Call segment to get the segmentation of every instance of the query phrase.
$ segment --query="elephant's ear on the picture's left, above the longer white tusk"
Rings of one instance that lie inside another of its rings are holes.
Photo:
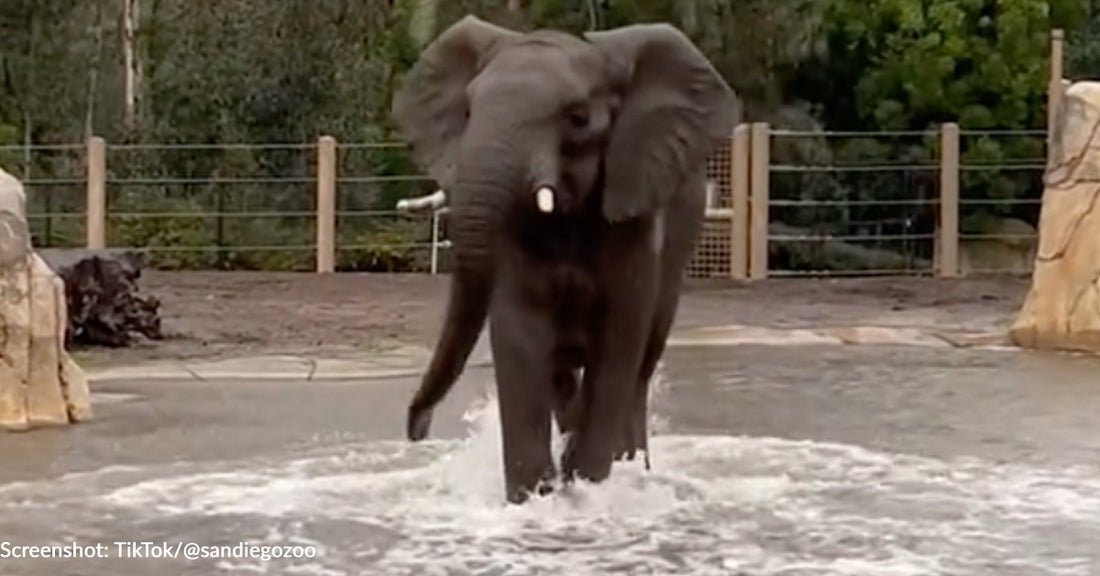
[[[413,157],[444,189],[452,185],[454,148],[466,128],[466,85],[502,40],[518,35],[468,15],[424,49],[394,95],[392,114]]]

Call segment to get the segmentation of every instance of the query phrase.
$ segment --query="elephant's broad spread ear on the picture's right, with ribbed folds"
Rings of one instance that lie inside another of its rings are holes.
[[[588,32],[623,96],[605,159],[604,215],[656,210],[733,129],[736,96],[682,32],[635,24]]]

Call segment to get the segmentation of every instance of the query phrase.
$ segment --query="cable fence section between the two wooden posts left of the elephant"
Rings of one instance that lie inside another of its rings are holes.
[[[161,268],[306,270],[316,145],[107,145],[106,244]]]

